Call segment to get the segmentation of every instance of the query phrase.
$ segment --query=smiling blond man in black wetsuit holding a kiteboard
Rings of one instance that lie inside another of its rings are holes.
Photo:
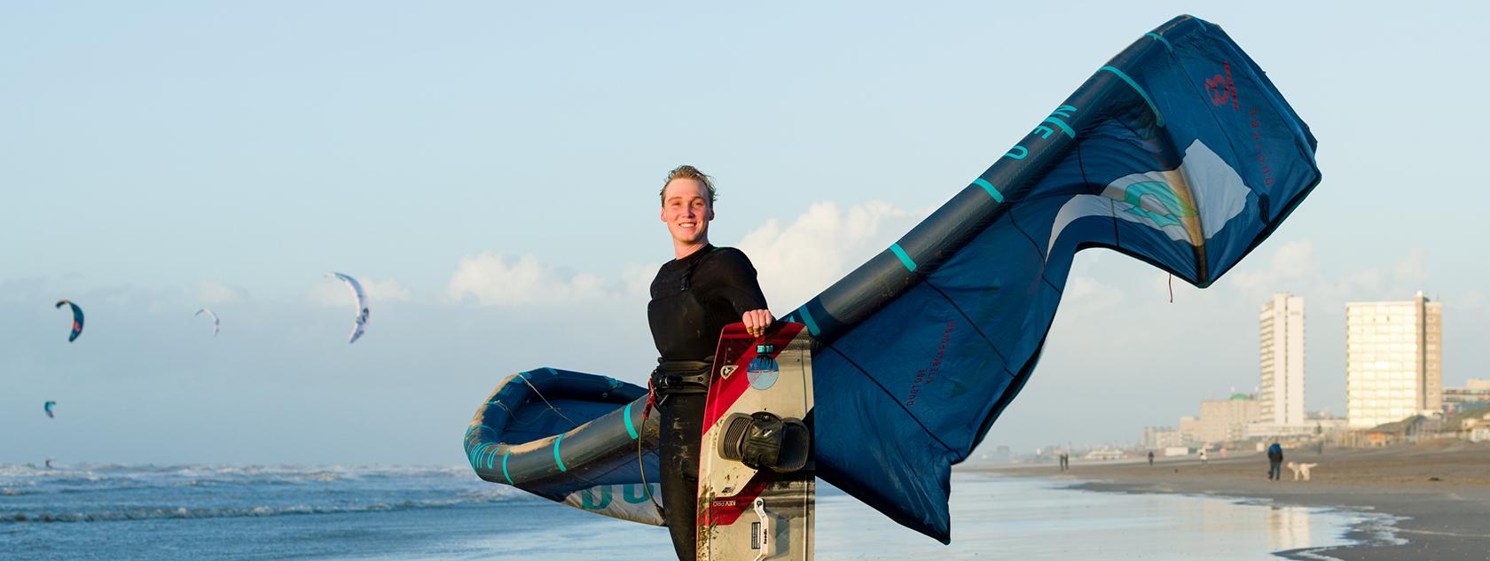
[[[697,168],[682,165],[668,174],[662,222],[676,259],[657,271],[647,305],[660,354],[651,387],[662,427],[663,518],[681,561],[696,558],[703,400],[720,332],[742,321],[746,332],[760,336],[775,321],[745,253],[709,244],[714,198],[709,176]]]

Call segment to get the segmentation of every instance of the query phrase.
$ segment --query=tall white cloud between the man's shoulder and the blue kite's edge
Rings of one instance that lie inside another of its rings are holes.
[[[738,247],[749,256],[760,287],[776,312],[787,312],[888,247],[909,226],[909,213],[870,201],[840,210],[817,202],[790,225],[775,219],[745,234]]]

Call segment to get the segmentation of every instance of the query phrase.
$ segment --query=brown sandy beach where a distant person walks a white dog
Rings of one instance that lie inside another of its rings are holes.
[[[998,473],[1079,481],[1112,493],[1176,493],[1271,500],[1401,516],[1398,543],[1356,528],[1360,546],[1329,551],[1338,560],[1490,560],[1490,443],[1427,442],[1377,449],[1289,449],[1284,461],[1316,463],[1311,481],[1268,481],[1261,452],[1147,461],[1079,461],[995,469]]]

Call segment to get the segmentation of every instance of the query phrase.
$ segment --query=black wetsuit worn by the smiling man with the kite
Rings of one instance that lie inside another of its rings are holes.
[[[720,330],[751,310],[766,310],[755,268],[732,247],[705,246],[657,271],[647,320],[657,344],[657,412],[662,423],[663,516],[678,560],[693,561],[697,542],[699,448],[709,363]]]

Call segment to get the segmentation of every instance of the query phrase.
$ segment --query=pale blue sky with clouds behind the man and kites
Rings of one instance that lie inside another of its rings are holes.
[[[1310,411],[1344,414],[1350,301],[1423,290],[1444,382],[1490,378],[1480,6],[6,3],[0,461],[463,463],[505,375],[645,379],[668,170],[715,177],[711,240],[781,315],[1191,12],[1268,71],[1325,179],[1173,302],[1083,251],[979,452],[1131,443],[1252,391],[1274,292],[1305,299]],[[328,271],[368,289],[355,345]]]

